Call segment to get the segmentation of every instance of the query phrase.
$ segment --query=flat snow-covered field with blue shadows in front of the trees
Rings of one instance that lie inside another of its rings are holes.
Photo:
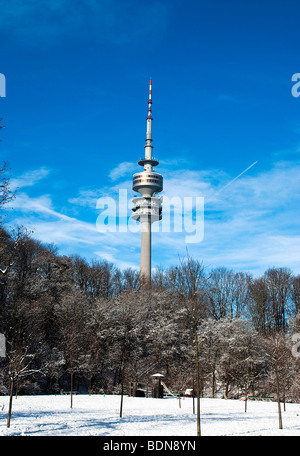
[[[0,396],[0,436],[196,436],[192,399],[152,399],[124,396],[19,396],[13,400],[6,428],[7,396]],[[277,403],[201,399],[203,436],[300,436],[300,404],[286,404],[283,429],[278,429]]]

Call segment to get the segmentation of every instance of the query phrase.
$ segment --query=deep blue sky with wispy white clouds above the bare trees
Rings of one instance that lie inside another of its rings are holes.
[[[133,196],[151,77],[164,195],[205,208],[201,242],[153,233],[153,267],[188,249],[209,268],[300,273],[299,2],[0,0],[0,10],[11,226],[61,254],[139,266],[140,235],[99,233],[96,204]]]

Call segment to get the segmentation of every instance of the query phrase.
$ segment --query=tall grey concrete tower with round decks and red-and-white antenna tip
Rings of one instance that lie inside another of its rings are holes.
[[[159,164],[152,156],[152,81],[149,85],[147,133],[145,158],[138,164],[143,171],[133,175],[132,188],[142,196],[133,198],[132,218],[142,225],[140,280],[144,285],[151,284],[151,225],[162,218],[162,199],[157,195],[163,189],[163,177],[153,170]]]

